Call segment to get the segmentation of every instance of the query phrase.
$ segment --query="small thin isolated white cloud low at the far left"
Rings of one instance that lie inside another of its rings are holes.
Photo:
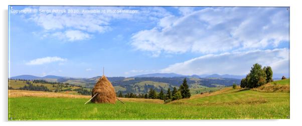
[[[39,64],[45,64],[45,63],[51,63],[51,62],[57,62],[57,61],[66,61],[66,58],[61,58],[58,56],[53,56],[53,57],[43,57],[43,58],[37,58],[37,59],[33,59],[30,60],[29,62],[27,62],[27,65],[39,65]]]

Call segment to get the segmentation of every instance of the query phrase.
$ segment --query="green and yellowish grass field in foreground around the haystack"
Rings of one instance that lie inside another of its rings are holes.
[[[289,92],[286,91],[260,92],[226,87],[168,104],[158,99],[121,98],[125,104],[116,101],[116,104],[86,105],[90,96],[45,97],[35,94],[42,91],[29,92],[31,95],[19,94],[18,91],[23,90],[10,92],[14,91],[9,98],[9,120],[289,118]]]

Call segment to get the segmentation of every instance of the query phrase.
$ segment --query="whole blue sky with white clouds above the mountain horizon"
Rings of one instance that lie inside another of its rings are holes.
[[[243,75],[257,62],[289,76],[286,7],[11,6],[10,35],[11,76]]]

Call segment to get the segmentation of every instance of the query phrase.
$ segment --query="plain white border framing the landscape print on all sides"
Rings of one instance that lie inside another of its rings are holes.
[[[301,4],[299,0],[0,0],[2,125],[297,125],[300,123]],[[8,5],[167,5],[167,6],[290,6],[290,119],[276,120],[100,120],[8,121]],[[101,122],[101,123],[100,123]]]

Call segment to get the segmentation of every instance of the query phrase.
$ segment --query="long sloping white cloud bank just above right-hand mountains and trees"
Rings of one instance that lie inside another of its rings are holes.
[[[161,72],[179,74],[247,74],[254,63],[271,66],[273,73],[289,74],[289,50],[287,48],[253,50],[222,54],[207,54],[184,62],[169,65]]]

